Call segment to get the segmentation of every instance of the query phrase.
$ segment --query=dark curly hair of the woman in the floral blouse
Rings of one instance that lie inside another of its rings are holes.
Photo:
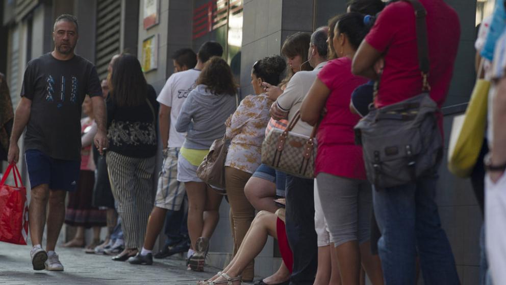
[[[251,73],[257,78],[261,78],[262,81],[275,86],[280,84],[281,74],[284,72],[285,68],[285,59],[279,55],[272,55],[255,62]]]

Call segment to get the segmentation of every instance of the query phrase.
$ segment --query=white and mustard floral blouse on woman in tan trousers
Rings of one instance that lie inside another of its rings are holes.
[[[246,96],[235,113],[226,120],[226,137],[231,139],[231,145],[225,166],[247,173],[257,170],[271,104],[266,94]]]

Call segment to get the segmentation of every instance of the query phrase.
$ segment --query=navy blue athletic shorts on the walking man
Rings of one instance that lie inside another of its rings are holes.
[[[51,158],[38,150],[24,153],[32,188],[49,184],[49,189],[74,191],[79,180],[81,161]]]

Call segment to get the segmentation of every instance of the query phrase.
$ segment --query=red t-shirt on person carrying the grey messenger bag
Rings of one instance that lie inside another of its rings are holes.
[[[442,0],[419,0],[427,10],[431,98],[441,107],[446,99],[457,56],[460,24],[457,13]],[[375,101],[377,108],[422,92],[415,14],[408,2],[394,2],[380,13],[365,40],[384,54],[385,67]]]

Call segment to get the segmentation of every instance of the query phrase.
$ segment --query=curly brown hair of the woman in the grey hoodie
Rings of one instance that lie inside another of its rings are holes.
[[[237,93],[237,85],[234,82],[229,64],[217,56],[211,57],[206,62],[196,84],[206,85],[207,89],[215,95],[229,94],[234,96]]]

